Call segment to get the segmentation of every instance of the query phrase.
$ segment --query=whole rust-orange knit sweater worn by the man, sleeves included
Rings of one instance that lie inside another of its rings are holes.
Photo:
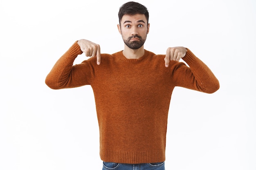
[[[117,163],[165,160],[167,116],[175,86],[213,93],[218,79],[188,49],[183,62],[164,66],[165,55],[145,50],[139,59],[122,51],[101,54],[73,65],[82,54],[75,42],[56,62],[45,83],[53,89],[90,85],[94,91],[100,133],[100,157]]]

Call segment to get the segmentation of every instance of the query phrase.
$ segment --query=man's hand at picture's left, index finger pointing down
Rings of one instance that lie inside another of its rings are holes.
[[[101,49],[99,44],[84,39],[78,40],[77,44],[80,46],[81,51],[85,53],[86,57],[97,57],[97,64],[101,64]]]

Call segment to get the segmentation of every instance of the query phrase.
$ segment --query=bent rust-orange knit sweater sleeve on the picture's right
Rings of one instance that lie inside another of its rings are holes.
[[[171,69],[171,75],[176,86],[189,88],[204,93],[214,93],[220,88],[218,79],[210,68],[196,57],[189,49],[182,58],[188,65],[176,62]]]

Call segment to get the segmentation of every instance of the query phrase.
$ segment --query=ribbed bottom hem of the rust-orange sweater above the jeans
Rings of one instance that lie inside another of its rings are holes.
[[[101,150],[101,160],[115,163],[154,163],[165,161],[165,151],[122,151],[122,150]]]

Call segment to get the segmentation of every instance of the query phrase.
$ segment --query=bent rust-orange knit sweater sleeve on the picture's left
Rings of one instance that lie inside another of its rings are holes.
[[[95,73],[95,66],[90,62],[91,60],[85,60],[81,64],[73,65],[76,57],[82,53],[76,41],[58,59],[47,75],[45,84],[52,89],[74,88],[90,84]]]

